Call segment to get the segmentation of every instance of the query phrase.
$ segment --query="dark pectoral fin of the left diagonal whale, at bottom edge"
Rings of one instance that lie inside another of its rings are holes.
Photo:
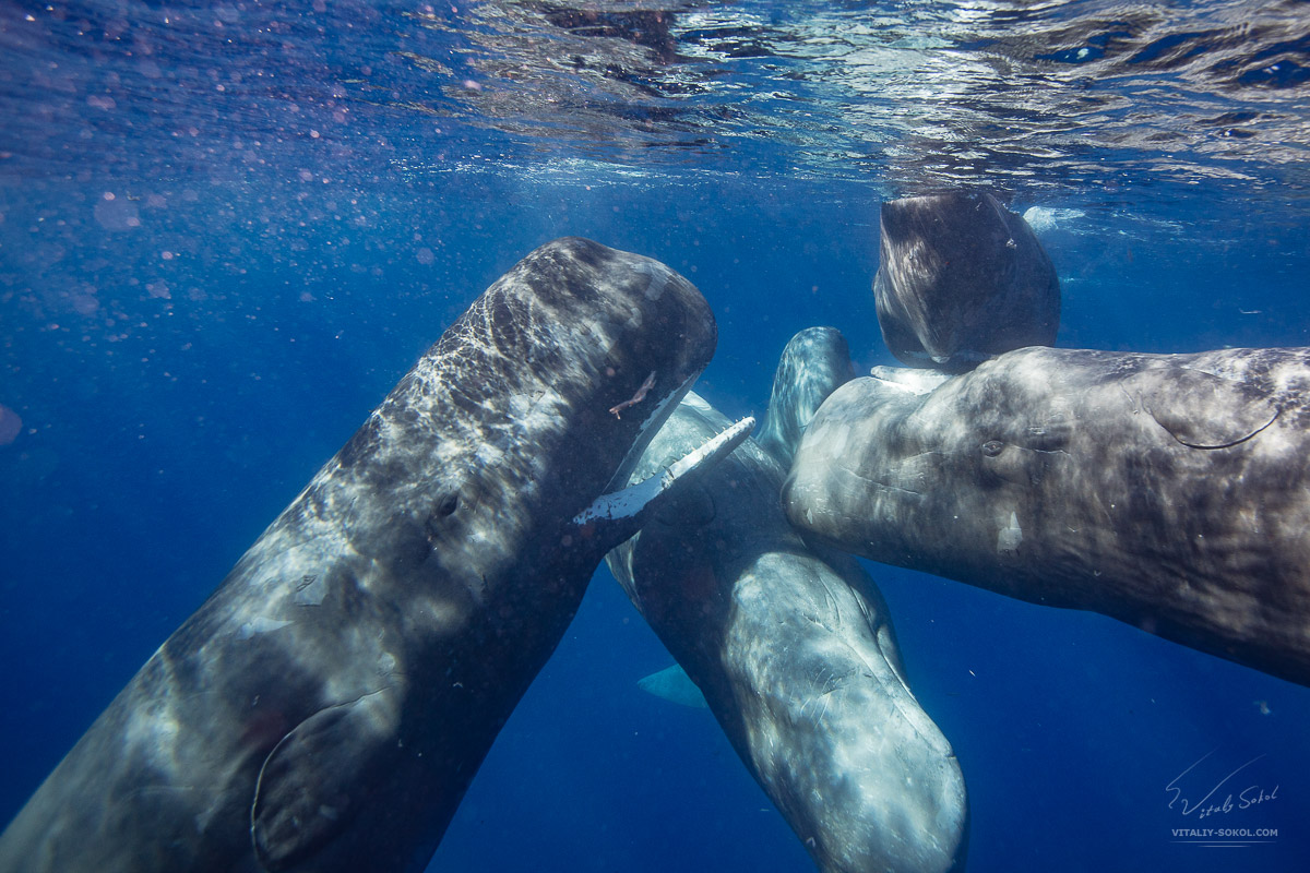
[[[316,855],[359,811],[358,781],[390,736],[392,696],[383,690],[321,709],[269,753],[250,809],[265,868],[286,870]]]

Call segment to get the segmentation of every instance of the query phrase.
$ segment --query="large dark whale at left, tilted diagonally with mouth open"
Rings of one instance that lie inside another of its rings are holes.
[[[115,698],[0,836],[0,870],[421,870],[601,558],[659,504],[601,496],[714,344],[668,267],[578,238],[531,253]]]

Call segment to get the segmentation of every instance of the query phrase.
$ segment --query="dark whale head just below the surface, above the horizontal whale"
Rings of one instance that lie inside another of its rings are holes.
[[[883,204],[874,304],[887,348],[910,366],[962,372],[1049,346],[1060,280],[1023,220],[985,191]]]

